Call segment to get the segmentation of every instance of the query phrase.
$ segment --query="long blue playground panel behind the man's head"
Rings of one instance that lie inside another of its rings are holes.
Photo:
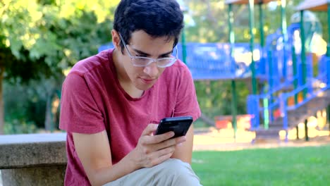
[[[99,51],[114,47],[105,44],[99,47]],[[178,58],[182,60],[183,52],[181,43],[178,44]],[[249,64],[245,61],[236,61],[229,55],[228,43],[193,43],[185,44],[188,56],[185,63],[190,69],[194,80],[229,80],[250,77]],[[234,46],[236,54],[250,54],[249,44],[237,43]],[[255,51],[259,51],[259,46]],[[175,54],[173,54],[175,55]]]

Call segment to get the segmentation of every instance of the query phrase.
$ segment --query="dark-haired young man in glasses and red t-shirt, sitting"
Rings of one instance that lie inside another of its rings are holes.
[[[79,61],[63,82],[65,185],[200,185],[185,137],[153,135],[161,118],[200,117],[193,79],[175,51],[183,14],[175,0],[122,0],[114,49]]]

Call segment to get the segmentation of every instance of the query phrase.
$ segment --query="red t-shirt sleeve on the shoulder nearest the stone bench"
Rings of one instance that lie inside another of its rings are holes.
[[[81,75],[70,73],[63,82],[59,128],[85,134],[105,130],[102,113]]]

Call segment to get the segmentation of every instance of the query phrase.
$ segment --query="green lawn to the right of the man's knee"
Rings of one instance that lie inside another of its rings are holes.
[[[330,185],[330,146],[194,151],[202,185]]]

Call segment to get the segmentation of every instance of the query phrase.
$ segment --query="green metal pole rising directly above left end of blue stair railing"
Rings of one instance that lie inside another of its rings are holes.
[[[249,18],[250,18],[250,51],[251,51],[251,72],[252,72],[252,94],[257,94],[257,80],[255,77],[255,60],[253,59],[253,44],[254,44],[254,25],[255,25],[255,11],[254,11],[254,1],[249,0]]]

